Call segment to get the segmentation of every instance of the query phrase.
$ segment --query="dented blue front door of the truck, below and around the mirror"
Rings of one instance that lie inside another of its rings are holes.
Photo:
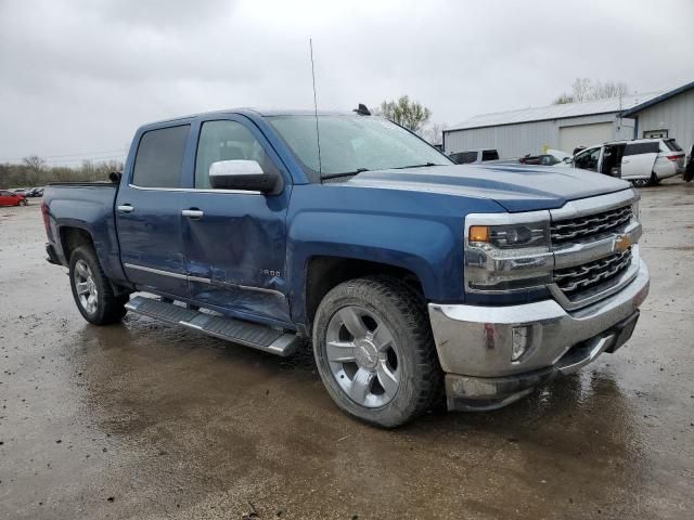
[[[191,297],[239,317],[290,322],[285,218],[292,184],[275,195],[214,190],[209,168],[219,160],[256,160],[287,181],[285,167],[262,133],[243,116],[203,121],[191,190],[184,193],[183,240]]]

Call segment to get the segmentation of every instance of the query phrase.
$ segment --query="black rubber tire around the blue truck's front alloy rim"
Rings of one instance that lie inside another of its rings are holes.
[[[339,311],[354,308],[375,316],[377,326],[385,324],[391,344],[397,346],[398,387],[395,395],[383,406],[368,407],[354,401],[331,368],[326,347],[329,325]],[[423,414],[441,394],[442,372],[426,303],[397,278],[368,276],[351,280],[327,292],[316,313],[313,353],[318,372],[333,401],[349,415],[375,426],[394,428],[403,425]]]

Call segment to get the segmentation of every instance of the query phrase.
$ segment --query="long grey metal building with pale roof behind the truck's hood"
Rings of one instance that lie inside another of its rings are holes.
[[[570,154],[577,146],[634,139],[637,119],[626,114],[666,95],[651,92],[475,116],[444,132],[444,151],[497,148],[500,157],[512,158],[547,148]],[[644,128],[643,121],[639,128]]]

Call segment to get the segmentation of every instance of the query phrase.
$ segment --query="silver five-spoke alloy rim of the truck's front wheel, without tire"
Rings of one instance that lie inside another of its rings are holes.
[[[333,315],[325,353],[333,377],[357,404],[384,406],[398,392],[398,347],[388,327],[367,309],[349,306]]]

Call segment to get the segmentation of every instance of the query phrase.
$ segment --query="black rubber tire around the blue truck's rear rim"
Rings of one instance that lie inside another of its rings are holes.
[[[83,262],[89,268],[91,283],[95,288],[95,306],[93,310],[88,310],[80,300],[78,294],[78,273],[77,265],[82,266]],[[89,323],[94,325],[108,325],[118,323],[126,315],[127,309],[125,304],[130,298],[129,295],[115,296],[113,287],[108,283],[108,278],[104,274],[94,249],[90,246],[81,246],[73,251],[69,258],[69,285],[73,289],[73,298],[77,304],[77,309]]]

